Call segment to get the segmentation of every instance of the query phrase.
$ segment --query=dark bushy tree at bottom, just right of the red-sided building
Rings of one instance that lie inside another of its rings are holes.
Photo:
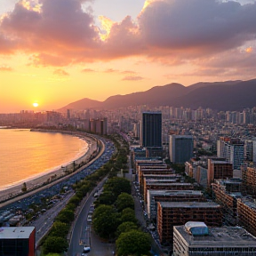
[[[49,252],[67,252],[68,242],[63,237],[48,236],[43,245],[43,252],[47,254]]]

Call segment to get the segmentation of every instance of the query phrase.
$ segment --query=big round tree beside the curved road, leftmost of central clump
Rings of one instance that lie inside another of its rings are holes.
[[[102,238],[115,237],[116,228],[120,224],[118,213],[110,205],[100,205],[92,215],[92,226]]]

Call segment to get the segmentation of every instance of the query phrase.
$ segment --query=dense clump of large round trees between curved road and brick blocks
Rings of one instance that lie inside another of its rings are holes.
[[[129,180],[109,179],[95,204],[92,227],[100,237],[116,240],[118,256],[151,255],[150,237],[140,230],[135,217]]]

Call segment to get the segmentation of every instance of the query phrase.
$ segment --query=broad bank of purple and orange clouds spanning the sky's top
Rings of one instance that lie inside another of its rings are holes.
[[[256,38],[255,2],[148,0],[138,20],[126,16],[114,22],[100,16],[101,28],[92,12],[82,8],[84,2],[91,1],[20,1],[0,20],[0,54],[26,52],[30,65],[36,66],[64,67],[131,56],[164,65],[200,66],[214,56],[239,51]],[[253,53],[253,47],[248,45],[247,53]],[[248,54],[239,56],[240,65],[255,65]],[[234,59],[229,56],[229,65],[235,65]]]

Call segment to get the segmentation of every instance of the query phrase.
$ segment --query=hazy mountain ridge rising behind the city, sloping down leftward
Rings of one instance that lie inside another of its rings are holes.
[[[149,105],[185,107],[215,110],[242,110],[256,106],[256,79],[248,81],[226,81],[214,83],[196,83],[188,87],[182,84],[155,86],[146,92],[134,92],[115,95],[105,101],[84,98],[60,108],[60,112],[69,109],[85,110],[125,108],[128,106]]]

